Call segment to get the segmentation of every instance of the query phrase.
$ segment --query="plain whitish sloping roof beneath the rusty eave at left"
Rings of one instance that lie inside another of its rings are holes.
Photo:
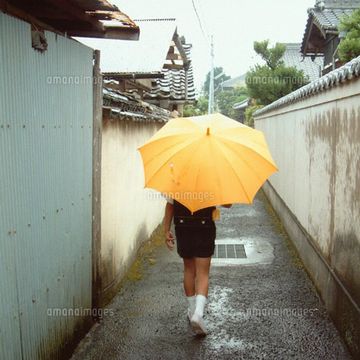
[[[176,31],[176,22],[174,19],[146,19],[137,20],[137,25],[140,27],[138,41],[77,40],[101,51],[100,68],[103,73],[160,72]]]

